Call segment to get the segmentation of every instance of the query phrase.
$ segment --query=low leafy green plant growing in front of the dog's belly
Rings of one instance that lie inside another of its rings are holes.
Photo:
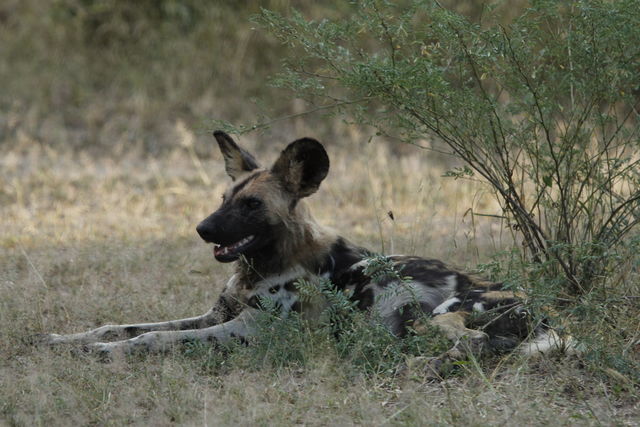
[[[299,291],[305,301],[324,300],[317,319],[299,313],[281,316],[269,299],[257,313],[256,333],[246,342],[232,341],[211,347],[194,341],[184,353],[202,361],[206,372],[219,374],[233,368],[305,368],[324,357],[339,360],[347,375],[394,378],[413,356],[438,356],[449,342],[435,326],[424,322],[420,334],[410,331],[398,338],[374,317],[360,311],[348,295],[329,282],[301,281]]]

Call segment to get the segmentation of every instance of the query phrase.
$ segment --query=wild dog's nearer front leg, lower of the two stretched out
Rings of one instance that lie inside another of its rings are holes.
[[[101,356],[109,357],[116,354],[131,354],[135,352],[166,351],[176,344],[188,341],[222,344],[231,339],[250,337],[254,331],[253,322],[256,312],[256,309],[247,308],[236,318],[208,328],[147,332],[128,340],[89,344],[86,348]]]

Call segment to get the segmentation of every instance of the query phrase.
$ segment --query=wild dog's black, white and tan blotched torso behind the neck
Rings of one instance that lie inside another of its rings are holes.
[[[490,344],[507,349],[531,333],[520,295],[442,261],[376,255],[342,237],[332,245],[329,258],[329,277],[336,288],[348,292],[359,309],[371,311],[398,336],[417,319],[447,313],[456,313],[456,322],[464,324],[464,329],[449,334],[452,339],[464,333],[488,335]],[[484,332],[467,327],[482,327]]]

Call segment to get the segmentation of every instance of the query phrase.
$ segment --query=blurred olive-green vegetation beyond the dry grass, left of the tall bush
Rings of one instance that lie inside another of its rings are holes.
[[[490,2],[446,1],[475,21]],[[509,21],[523,4],[499,6]],[[301,0],[6,0],[0,4],[0,144],[36,141],[111,155],[175,146],[181,121],[210,148],[212,120],[256,123],[305,106],[273,89],[288,46],[251,17],[261,8],[339,18],[350,2]],[[333,139],[339,123],[304,125]],[[334,126],[335,125],[335,126]],[[300,122],[278,123],[287,138]],[[297,129],[297,128],[296,128]],[[299,129],[298,129],[299,130]]]

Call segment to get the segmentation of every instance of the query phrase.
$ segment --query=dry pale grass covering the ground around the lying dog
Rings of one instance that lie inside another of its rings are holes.
[[[195,140],[180,123],[175,132],[187,145]],[[351,130],[351,148],[329,144],[330,177],[310,200],[319,220],[374,249],[384,245],[387,252],[460,265],[474,265],[510,243],[498,220],[482,217],[473,224],[465,216],[469,207],[497,213],[481,185],[442,179],[443,169],[426,152],[391,154],[383,144],[361,142],[365,136]],[[267,161],[287,142],[243,141]],[[318,355],[304,368],[230,366],[212,373],[201,357],[180,351],[102,364],[66,350],[30,346],[24,340],[32,333],[207,310],[229,268],[215,263],[194,226],[216,207],[227,179],[217,153],[199,168],[185,145],[158,158],[135,152],[91,157],[15,142],[3,153],[0,172],[0,422],[638,421],[633,393],[590,377],[575,361],[510,360],[480,370],[469,365],[463,376],[429,383],[419,375],[363,377],[331,355]]]

